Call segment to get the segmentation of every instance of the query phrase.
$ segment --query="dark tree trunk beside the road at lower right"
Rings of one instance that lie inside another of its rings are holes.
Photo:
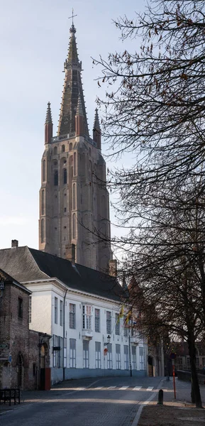
[[[196,404],[197,408],[202,408],[199,380],[198,380],[198,376],[196,372],[196,346],[195,346],[193,336],[190,336],[188,338],[188,346],[189,346],[189,356],[190,356],[190,366],[191,366],[192,403]]]

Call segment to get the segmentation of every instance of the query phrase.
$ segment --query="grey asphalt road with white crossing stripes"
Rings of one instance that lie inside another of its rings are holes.
[[[140,403],[157,398],[160,382],[130,377],[67,381],[41,393],[41,400],[39,393],[31,393],[29,403],[0,416],[0,425],[131,426]]]

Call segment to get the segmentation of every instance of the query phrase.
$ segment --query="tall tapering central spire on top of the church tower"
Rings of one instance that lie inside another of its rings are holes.
[[[79,62],[78,59],[75,33],[76,30],[72,24],[70,28],[70,44],[68,55],[64,63],[65,81],[62,91],[62,102],[57,136],[74,133],[76,131],[75,116],[77,114],[77,104],[79,97],[81,99],[84,116],[84,134],[89,136],[81,80],[82,62]]]

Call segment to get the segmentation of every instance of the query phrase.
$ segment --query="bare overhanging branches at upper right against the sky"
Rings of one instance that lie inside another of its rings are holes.
[[[123,52],[94,60],[106,88],[104,136],[113,155],[133,154],[132,168],[111,182],[133,188],[136,202],[149,185],[204,175],[205,5],[196,0],[150,0],[135,19],[115,22]],[[127,38],[140,40],[126,50]]]

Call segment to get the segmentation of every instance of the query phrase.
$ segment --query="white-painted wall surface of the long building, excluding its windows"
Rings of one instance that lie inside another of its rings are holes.
[[[40,332],[46,332],[57,337],[63,337],[63,320],[60,324],[60,300],[62,300],[62,307],[64,305],[64,297],[66,286],[60,285],[57,280],[52,282],[32,283],[26,285],[32,293],[32,321],[30,324],[31,329],[36,329]],[[57,297],[57,324],[55,324],[55,297]],[[70,303],[76,306],[76,328],[70,328]],[[118,314],[121,304],[106,300],[102,297],[94,295],[87,295],[80,293],[77,290],[67,290],[65,297],[65,338],[67,339],[67,361],[66,366],[70,368],[70,339],[76,340],[76,369],[83,368],[83,340],[82,336],[82,305],[90,305],[92,307],[92,338],[89,339],[89,369],[96,368],[96,353],[95,342],[101,343],[101,370],[107,369],[107,358],[104,355],[104,349],[107,347],[107,332],[106,332],[106,311],[111,311],[111,344],[112,344],[112,370],[116,370],[116,344],[121,345],[121,370],[125,370],[124,364],[124,345],[129,346],[128,337],[123,335],[123,318],[120,320],[120,335],[115,333],[116,313]],[[100,332],[95,332],[94,327],[94,313],[95,308],[100,310]],[[62,318],[63,319],[63,318]],[[62,343],[62,339],[61,339]],[[50,340],[50,366],[53,366],[52,346],[56,346],[53,339]],[[132,344],[131,344],[132,346]],[[140,357],[139,348],[144,348],[145,362],[144,368],[147,369],[147,350],[143,340],[138,338],[138,346],[136,347],[136,370],[140,371]],[[60,364],[61,371],[63,366],[63,349],[61,351],[62,363]],[[128,357],[128,369],[130,362]],[[55,367],[55,370],[60,368]],[[74,370],[74,368],[72,368]],[[62,376],[62,372],[60,373]],[[57,371],[55,376],[60,380]],[[62,378],[61,378],[62,379]]]

